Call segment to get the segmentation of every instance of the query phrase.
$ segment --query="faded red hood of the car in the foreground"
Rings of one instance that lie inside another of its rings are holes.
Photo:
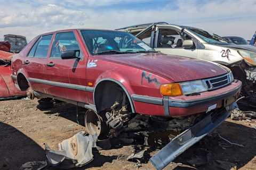
[[[210,62],[162,53],[98,55],[96,58],[139,67],[173,82],[206,79],[227,73],[227,70]]]

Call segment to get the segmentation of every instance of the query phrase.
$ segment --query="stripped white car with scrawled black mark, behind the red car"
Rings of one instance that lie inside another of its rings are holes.
[[[256,105],[256,47],[228,43],[209,32],[166,22],[146,23],[119,28],[145,41],[165,54],[186,56],[225,65],[235,79],[243,82],[242,94]]]

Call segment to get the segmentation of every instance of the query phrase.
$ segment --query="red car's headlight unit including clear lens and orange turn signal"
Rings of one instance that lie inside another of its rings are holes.
[[[206,84],[202,80],[163,84],[160,89],[163,96],[180,96],[207,91]]]

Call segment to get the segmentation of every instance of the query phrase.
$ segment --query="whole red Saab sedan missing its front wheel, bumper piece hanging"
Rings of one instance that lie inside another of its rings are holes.
[[[99,137],[120,132],[137,114],[163,123],[195,116],[195,125],[169,143],[172,156],[151,158],[158,168],[225,121],[242,86],[225,66],[159,53],[127,32],[94,29],[37,36],[13,56],[12,78],[29,96],[87,108],[87,131]]]

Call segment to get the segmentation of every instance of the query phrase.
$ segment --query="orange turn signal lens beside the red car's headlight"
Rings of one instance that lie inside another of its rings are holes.
[[[160,88],[163,96],[180,96],[182,90],[179,83],[163,84]]]

